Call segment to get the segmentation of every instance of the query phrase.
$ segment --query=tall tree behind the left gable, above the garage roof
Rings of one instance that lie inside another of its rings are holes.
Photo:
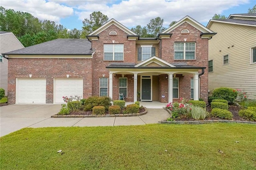
[[[94,30],[98,29],[100,26],[105,24],[108,21],[108,16],[102,14],[100,11],[92,12],[90,14],[90,19],[85,18],[83,21],[84,26],[82,27],[82,31],[84,34],[89,34]]]

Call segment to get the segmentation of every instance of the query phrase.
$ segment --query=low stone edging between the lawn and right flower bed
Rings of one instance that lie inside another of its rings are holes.
[[[206,123],[250,123],[255,124],[256,122],[248,121],[229,121],[229,120],[204,120],[204,121],[159,121],[162,124],[206,124]]]

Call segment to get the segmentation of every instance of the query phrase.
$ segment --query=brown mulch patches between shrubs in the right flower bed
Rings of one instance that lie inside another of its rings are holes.
[[[211,113],[211,107],[210,106],[208,106],[207,107],[207,109],[208,109],[208,112],[209,113]],[[233,114],[233,121],[247,121],[246,119],[243,119],[242,117],[240,117],[239,115],[238,115],[238,112],[241,110],[241,109],[243,109],[243,107],[241,107],[241,106],[237,106],[237,105],[229,105],[229,107],[228,107],[228,110]],[[190,119],[190,118],[187,118],[187,117],[180,117],[180,118],[175,118],[174,119],[175,121],[193,121],[194,119]],[[220,118],[217,118],[217,117],[206,117],[206,119],[205,120],[220,120]]]

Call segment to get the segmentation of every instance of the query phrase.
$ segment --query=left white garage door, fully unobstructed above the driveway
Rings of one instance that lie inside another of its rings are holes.
[[[46,103],[46,79],[17,79],[16,103]]]

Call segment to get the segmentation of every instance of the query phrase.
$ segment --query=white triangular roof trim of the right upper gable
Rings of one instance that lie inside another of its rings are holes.
[[[167,28],[166,30],[161,32],[161,34],[170,33],[172,30],[174,30],[175,28],[177,28],[184,22],[187,22],[194,28],[200,30],[202,33],[214,33],[214,32],[212,32],[212,30],[206,28],[205,26],[203,26],[202,24],[200,24],[199,22],[197,22],[196,20],[194,20],[193,18],[191,18],[190,16],[187,15],[184,18],[182,18],[181,20],[179,20],[178,22],[176,22],[174,25],[170,26],[169,28]]]

